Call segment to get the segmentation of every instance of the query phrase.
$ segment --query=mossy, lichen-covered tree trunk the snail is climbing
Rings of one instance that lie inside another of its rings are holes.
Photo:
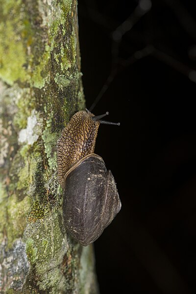
[[[0,0],[0,293],[98,293],[53,151],[84,105],[76,0]]]

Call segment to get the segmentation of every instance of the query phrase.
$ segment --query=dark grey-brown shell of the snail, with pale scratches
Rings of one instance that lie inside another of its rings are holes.
[[[121,210],[114,177],[102,158],[89,154],[64,179],[63,218],[73,239],[87,246],[98,239]]]

